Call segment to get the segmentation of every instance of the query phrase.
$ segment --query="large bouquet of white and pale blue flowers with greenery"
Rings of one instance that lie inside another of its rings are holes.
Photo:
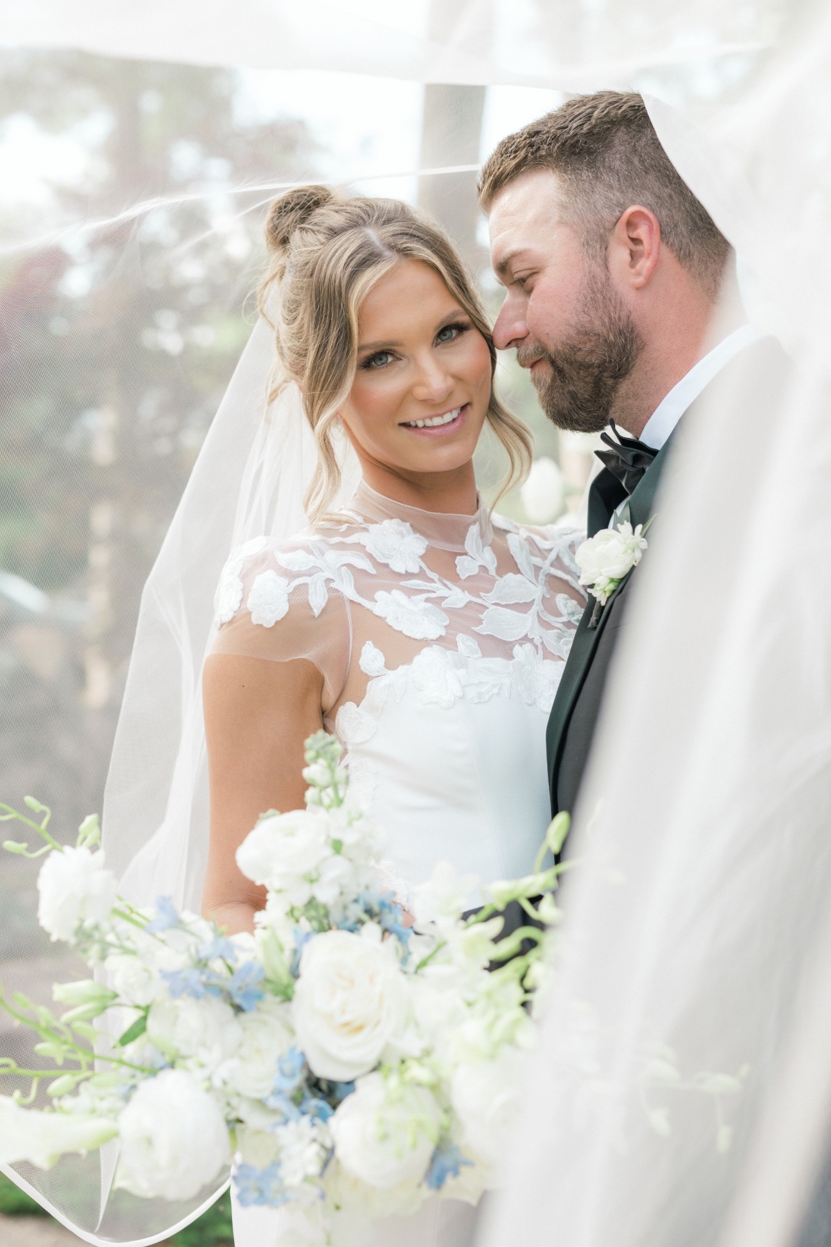
[[[0,1060],[32,1080],[0,1097],[0,1161],[46,1167],[117,1139],[116,1183],[135,1195],[193,1198],[233,1165],[242,1203],[305,1210],[324,1232],[350,1210],[409,1213],[432,1192],[476,1202],[493,1183],[544,966],[536,928],[497,943],[496,910],[517,899],[557,918],[549,894],[539,912],[529,898],[554,884],[561,868],[543,860],[567,816],[534,873],[491,884],[466,920],[473,880],[437,865],[409,927],[379,888],[379,833],[349,801],[338,742],[310,737],[306,762],[306,808],[263,814],[237,853],[267,889],[253,935],[166,898],[153,912],[120,899],[95,817],[70,848],[39,802],[26,799],[34,817],[1,807],[45,840],[4,847],[45,857],[40,924],[92,975],[54,988],[60,1016],[0,998],[60,1066]]]

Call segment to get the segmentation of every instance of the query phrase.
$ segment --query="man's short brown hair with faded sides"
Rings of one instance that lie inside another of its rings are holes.
[[[490,212],[508,182],[551,170],[563,183],[566,218],[605,254],[623,212],[639,203],[658,217],[663,241],[715,298],[730,243],[660,146],[643,97],[596,91],[508,135],[487,158],[478,196]]]

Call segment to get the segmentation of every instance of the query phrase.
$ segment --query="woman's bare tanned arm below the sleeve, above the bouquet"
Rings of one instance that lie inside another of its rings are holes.
[[[305,660],[212,653],[202,680],[211,847],[202,912],[230,934],[254,929],[265,892],[235,852],[267,809],[303,809],[303,742],[323,727],[323,676]]]

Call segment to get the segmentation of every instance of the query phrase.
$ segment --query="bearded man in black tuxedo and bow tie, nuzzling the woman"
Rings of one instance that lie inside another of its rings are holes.
[[[746,323],[730,244],[669,162],[642,97],[618,91],[572,99],[503,138],[480,203],[506,291],[496,345],[516,349],[557,428],[610,426],[588,535],[645,525],[705,392],[718,402],[751,354],[771,387],[781,374],[779,344]],[[574,635],[548,721],[554,814],[574,808],[633,580],[604,606],[589,597]]]

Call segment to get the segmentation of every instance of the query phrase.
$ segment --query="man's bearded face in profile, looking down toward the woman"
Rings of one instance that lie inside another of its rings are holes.
[[[556,173],[534,170],[491,206],[491,263],[506,291],[493,340],[516,349],[558,428],[597,433],[643,343],[604,256],[564,219],[562,196]]]

